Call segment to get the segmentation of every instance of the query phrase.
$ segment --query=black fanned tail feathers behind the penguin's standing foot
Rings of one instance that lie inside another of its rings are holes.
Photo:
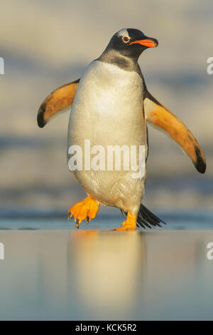
[[[124,215],[124,212],[121,212]],[[160,220],[159,217],[154,215],[150,210],[148,210],[144,205],[141,204],[140,210],[138,212],[137,227],[142,227],[144,229],[146,229],[146,227],[162,227],[162,223],[166,225],[163,220]]]

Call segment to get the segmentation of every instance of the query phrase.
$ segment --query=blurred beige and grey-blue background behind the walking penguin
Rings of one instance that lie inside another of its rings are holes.
[[[207,172],[200,175],[175,143],[149,127],[143,203],[151,210],[212,209],[211,0],[8,0],[1,1],[0,12],[1,212],[67,214],[84,197],[67,168],[69,113],[43,129],[36,116],[45,97],[80,78],[123,28],[158,38],[158,48],[139,60],[148,90],[187,124],[207,158]]]

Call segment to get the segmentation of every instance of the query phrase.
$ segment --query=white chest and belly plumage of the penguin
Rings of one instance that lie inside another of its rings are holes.
[[[133,171],[124,170],[122,163],[119,171],[84,170],[84,140],[91,148],[102,145],[105,153],[109,145],[145,145],[147,152],[143,83],[136,72],[101,61],[89,64],[72,105],[67,150],[71,145],[82,148],[83,170],[72,173],[89,195],[102,204],[137,212],[146,174],[133,178]]]

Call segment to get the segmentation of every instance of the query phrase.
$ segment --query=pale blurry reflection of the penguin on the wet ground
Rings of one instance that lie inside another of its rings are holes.
[[[75,285],[84,306],[121,311],[141,290],[145,260],[145,237],[138,232],[72,232],[68,285]]]

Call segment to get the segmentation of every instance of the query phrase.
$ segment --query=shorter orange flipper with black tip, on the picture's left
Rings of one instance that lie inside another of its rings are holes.
[[[60,86],[45,98],[37,115],[37,122],[40,128],[43,128],[53,116],[70,109],[79,82],[80,79],[77,79],[77,81]]]

